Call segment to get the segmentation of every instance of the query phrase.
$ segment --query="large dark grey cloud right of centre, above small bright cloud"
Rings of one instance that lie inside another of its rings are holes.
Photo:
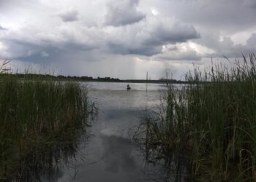
[[[120,29],[119,34],[110,36],[107,47],[116,54],[152,56],[161,53],[165,44],[199,38],[200,34],[192,25],[174,18],[147,17],[138,25]]]

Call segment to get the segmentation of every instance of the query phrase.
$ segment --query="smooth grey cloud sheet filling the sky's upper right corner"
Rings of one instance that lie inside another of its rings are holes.
[[[237,32],[255,25],[255,0],[164,1],[163,11],[216,31]]]

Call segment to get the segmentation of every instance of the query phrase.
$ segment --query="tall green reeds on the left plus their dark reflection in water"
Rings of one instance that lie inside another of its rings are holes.
[[[0,76],[0,181],[58,175],[59,163],[75,159],[95,109],[78,82],[23,76]]]

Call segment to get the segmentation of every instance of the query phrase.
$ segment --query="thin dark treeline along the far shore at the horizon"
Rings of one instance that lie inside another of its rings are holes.
[[[15,76],[18,79],[58,79],[58,80],[74,80],[80,82],[129,82],[129,83],[186,83],[176,79],[116,79],[110,77],[97,77],[92,76],[64,76],[64,75],[51,75],[51,74],[0,74],[1,78],[6,76]]]

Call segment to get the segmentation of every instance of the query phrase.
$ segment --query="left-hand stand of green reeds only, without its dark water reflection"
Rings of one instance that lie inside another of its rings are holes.
[[[87,90],[77,82],[4,76],[0,80],[0,181],[11,181],[20,161],[35,147],[47,149],[50,143],[64,143],[67,136],[74,138],[73,131],[84,128],[88,116]]]

